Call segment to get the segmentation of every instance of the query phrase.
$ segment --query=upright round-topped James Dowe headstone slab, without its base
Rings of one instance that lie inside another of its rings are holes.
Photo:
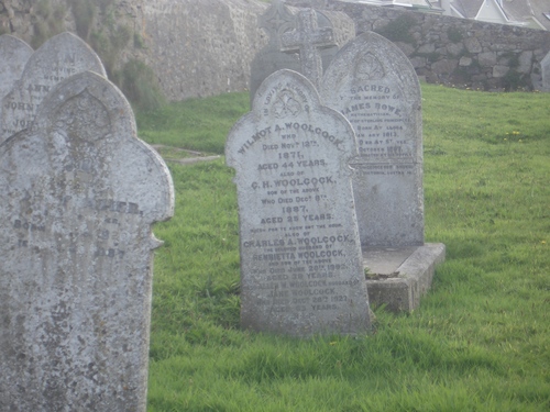
[[[343,47],[323,77],[323,103],[358,135],[353,189],[363,246],[424,244],[420,86],[408,58],[364,33]]]

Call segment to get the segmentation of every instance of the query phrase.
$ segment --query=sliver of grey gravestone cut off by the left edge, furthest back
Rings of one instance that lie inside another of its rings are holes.
[[[0,100],[8,94],[23,74],[33,49],[22,40],[9,34],[0,36]],[[0,105],[0,119],[2,119]]]

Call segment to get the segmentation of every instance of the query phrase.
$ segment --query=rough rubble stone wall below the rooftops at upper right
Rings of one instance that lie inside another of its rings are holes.
[[[298,7],[308,1],[288,0]],[[429,82],[482,90],[541,88],[540,62],[550,32],[383,7],[327,0],[343,11],[358,34],[375,31],[394,41]]]

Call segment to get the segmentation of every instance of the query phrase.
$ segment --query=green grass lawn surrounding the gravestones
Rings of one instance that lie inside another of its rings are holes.
[[[550,410],[550,94],[422,92],[426,238],[447,260],[418,310],[376,309],[370,335],[241,331],[233,170],[168,163],[150,412]],[[244,93],[177,103],[139,114],[140,135],[222,153],[246,110]]]

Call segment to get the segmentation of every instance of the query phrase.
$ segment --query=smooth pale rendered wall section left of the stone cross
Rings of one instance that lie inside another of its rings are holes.
[[[249,88],[250,63],[267,43],[249,0],[155,0],[143,4],[148,64],[170,100]]]

